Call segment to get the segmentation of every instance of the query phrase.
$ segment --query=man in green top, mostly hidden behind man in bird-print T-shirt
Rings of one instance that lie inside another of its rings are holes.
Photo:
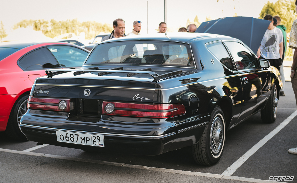
[[[277,25],[276,27],[279,28],[282,31],[282,34],[284,35],[284,52],[282,54],[282,66],[279,69],[279,73],[280,73],[280,77],[282,79],[282,89],[280,90],[279,95],[280,96],[285,96],[285,92],[283,90],[284,86],[285,86],[285,75],[284,75],[284,58],[286,55],[286,50],[287,50],[287,33],[286,30],[287,28],[284,25],[280,25],[281,23],[281,19],[279,16],[274,16],[273,18],[275,18],[277,20]]]

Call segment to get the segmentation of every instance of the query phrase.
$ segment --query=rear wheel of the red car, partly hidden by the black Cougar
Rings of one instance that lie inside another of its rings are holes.
[[[17,101],[15,106],[12,108],[10,117],[8,119],[7,127],[5,133],[11,139],[18,141],[28,141],[26,136],[20,130],[20,118],[27,112],[29,95],[21,96]]]

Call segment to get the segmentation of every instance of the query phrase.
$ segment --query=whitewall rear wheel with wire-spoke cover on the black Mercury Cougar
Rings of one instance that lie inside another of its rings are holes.
[[[225,131],[224,113],[219,106],[216,106],[200,140],[192,145],[196,163],[211,166],[220,160],[224,149]]]

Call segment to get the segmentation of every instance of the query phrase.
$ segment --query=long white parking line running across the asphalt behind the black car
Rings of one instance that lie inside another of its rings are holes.
[[[173,173],[173,174],[194,175],[194,176],[212,177],[212,178],[218,178],[218,179],[238,180],[238,181],[245,181],[245,182],[257,182],[257,183],[268,183],[269,182],[268,180],[253,179],[253,178],[247,178],[247,177],[225,176],[225,175],[209,174],[209,173],[203,173],[203,172],[183,171],[183,170],[174,170],[174,169],[167,169],[167,168],[156,168],[156,167],[148,167],[148,166],[141,166],[141,165],[129,165],[129,164],[124,164],[124,163],[114,163],[114,162],[108,162],[108,161],[90,160],[90,159],[82,159],[82,158],[76,158],[76,157],[49,155],[49,154],[36,153],[36,152],[16,151],[16,150],[11,150],[11,149],[1,149],[0,148],[0,151],[24,154],[24,155],[31,155],[31,156],[51,157],[51,158],[80,161],[80,162],[87,162],[87,163],[97,163],[97,164],[104,164],[104,165],[146,169],[146,170],[160,171],[160,172]],[[219,180],[217,182],[219,182]]]

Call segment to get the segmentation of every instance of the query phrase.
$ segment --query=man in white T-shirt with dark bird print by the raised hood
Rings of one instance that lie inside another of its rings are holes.
[[[264,20],[270,20],[271,23],[263,36],[257,56],[260,59],[268,60],[271,66],[279,70],[282,65],[282,53],[284,50],[283,34],[279,28],[273,26],[273,17],[271,15],[266,15]]]

